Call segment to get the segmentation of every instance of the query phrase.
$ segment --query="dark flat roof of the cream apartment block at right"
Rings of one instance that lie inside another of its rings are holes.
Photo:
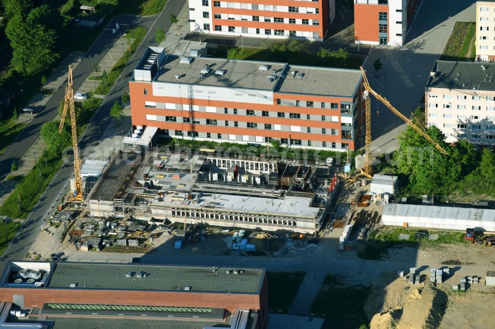
[[[427,87],[495,90],[494,63],[437,61],[433,71],[437,74],[428,79]]]

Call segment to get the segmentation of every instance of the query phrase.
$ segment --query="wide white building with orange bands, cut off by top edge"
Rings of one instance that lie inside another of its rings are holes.
[[[192,32],[254,38],[323,40],[335,0],[189,0]]]

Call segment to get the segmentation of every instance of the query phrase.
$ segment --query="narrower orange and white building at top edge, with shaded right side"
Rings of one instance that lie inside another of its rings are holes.
[[[354,0],[354,42],[401,46],[422,0]]]

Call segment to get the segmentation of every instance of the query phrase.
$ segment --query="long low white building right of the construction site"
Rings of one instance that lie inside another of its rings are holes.
[[[495,231],[495,210],[450,206],[387,204],[382,224],[421,228]]]

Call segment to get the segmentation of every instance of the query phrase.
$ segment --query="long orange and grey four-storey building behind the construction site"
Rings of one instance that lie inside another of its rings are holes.
[[[280,139],[291,147],[336,151],[360,143],[359,70],[165,58],[163,48],[150,47],[129,89],[132,123],[157,126],[170,137],[243,144]]]

